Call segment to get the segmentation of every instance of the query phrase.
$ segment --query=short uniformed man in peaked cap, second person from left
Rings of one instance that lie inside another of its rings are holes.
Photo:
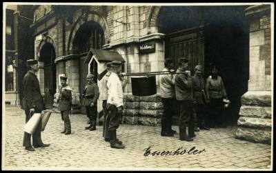
[[[59,110],[61,111],[61,119],[64,121],[64,130],[61,133],[71,134],[71,123],[69,112],[72,104],[72,89],[67,85],[67,77],[60,77],[61,88],[59,90]]]

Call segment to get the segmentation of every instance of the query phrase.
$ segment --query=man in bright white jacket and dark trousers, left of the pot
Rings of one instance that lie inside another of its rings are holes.
[[[125,146],[117,139],[116,130],[119,128],[121,113],[123,112],[123,86],[118,74],[121,73],[121,62],[111,62],[111,74],[108,79],[108,101],[107,101],[107,117],[106,128],[108,128],[110,136],[110,147],[123,149]],[[105,134],[106,135],[106,134]]]

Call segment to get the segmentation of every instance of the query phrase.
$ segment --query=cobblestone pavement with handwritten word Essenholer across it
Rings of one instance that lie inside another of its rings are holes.
[[[22,147],[23,110],[6,107],[2,145],[2,170],[270,170],[270,145],[235,139],[235,127],[201,130],[193,142],[160,136],[160,127],[121,125],[117,135],[124,150],[110,148],[102,138],[102,126],[96,131],[84,130],[87,118],[73,114],[72,134],[61,134],[63,121],[53,113],[46,130],[44,143],[50,147],[28,152]],[[2,126],[3,127],[3,126]],[[177,126],[173,127],[178,132]],[[150,145],[153,145],[150,147]],[[189,152],[195,146],[195,150]],[[145,148],[150,147],[148,156]],[[178,152],[175,152],[182,147]],[[184,153],[184,149],[186,152]],[[172,151],[157,155],[154,151]],[[192,154],[193,153],[193,154]],[[166,155],[167,154],[167,155]],[[175,155],[173,155],[175,154]],[[3,160],[4,159],[4,160]]]

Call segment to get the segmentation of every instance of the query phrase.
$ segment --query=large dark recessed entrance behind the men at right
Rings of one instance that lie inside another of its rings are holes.
[[[215,63],[232,102],[225,112],[229,123],[237,123],[240,99],[247,91],[249,29],[244,10],[247,6],[161,7],[157,17],[159,32],[166,34],[165,58],[175,61],[188,57],[192,75],[195,65]],[[175,124],[178,122],[175,106]]]

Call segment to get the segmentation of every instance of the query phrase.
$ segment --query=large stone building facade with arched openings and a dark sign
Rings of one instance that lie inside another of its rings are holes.
[[[66,75],[73,89],[73,110],[83,111],[81,92],[85,77],[88,72],[95,72],[95,67],[88,67],[85,60],[90,48],[94,48],[118,52],[126,61],[124,72],[127,73],[161,71],[165,58],[174,60],[176,70],[178,59],[188,57],[192,74],[199,64],[204,66],[204,77],[208,77],[208,64],[217,63],[226,92],[230,93],[228,97],[235,103],[236,113],[229,114],[238,114],[243,94],[270,88],[270,34],[266,28],[270,14],[259,24],[256,21],[252,24],[246,16],[248,7],[34,6],[34,22],[30,28],[34,30],[34,58],[39,61],[38,77],[46,107],[57,106],[59,76]],[[257,29],[257,25],[263,24]],[[264,38],[260,39],[264,43],[255,45],[252,40],[261,38],[260,32],[264,32]],[[264,71],[265,78],[252,78],[256,66],[253,64],[257,64],[252,59],[257,58],[256,54],[264,63],[264,68],[256,69]],[[156,77],[157,94],[153,96],[133,96],[130,79],[124,89],[123,123],[159,125],[163,111],[159,76]],[[263,79],[267,83],[265,89],[264,85],[257,86]],[[248,106],[251,105],[246,105],[243,99],[243,116]],[[264,108],[267,104],[262,106],[258,107],[261,112],[269,109]]]

